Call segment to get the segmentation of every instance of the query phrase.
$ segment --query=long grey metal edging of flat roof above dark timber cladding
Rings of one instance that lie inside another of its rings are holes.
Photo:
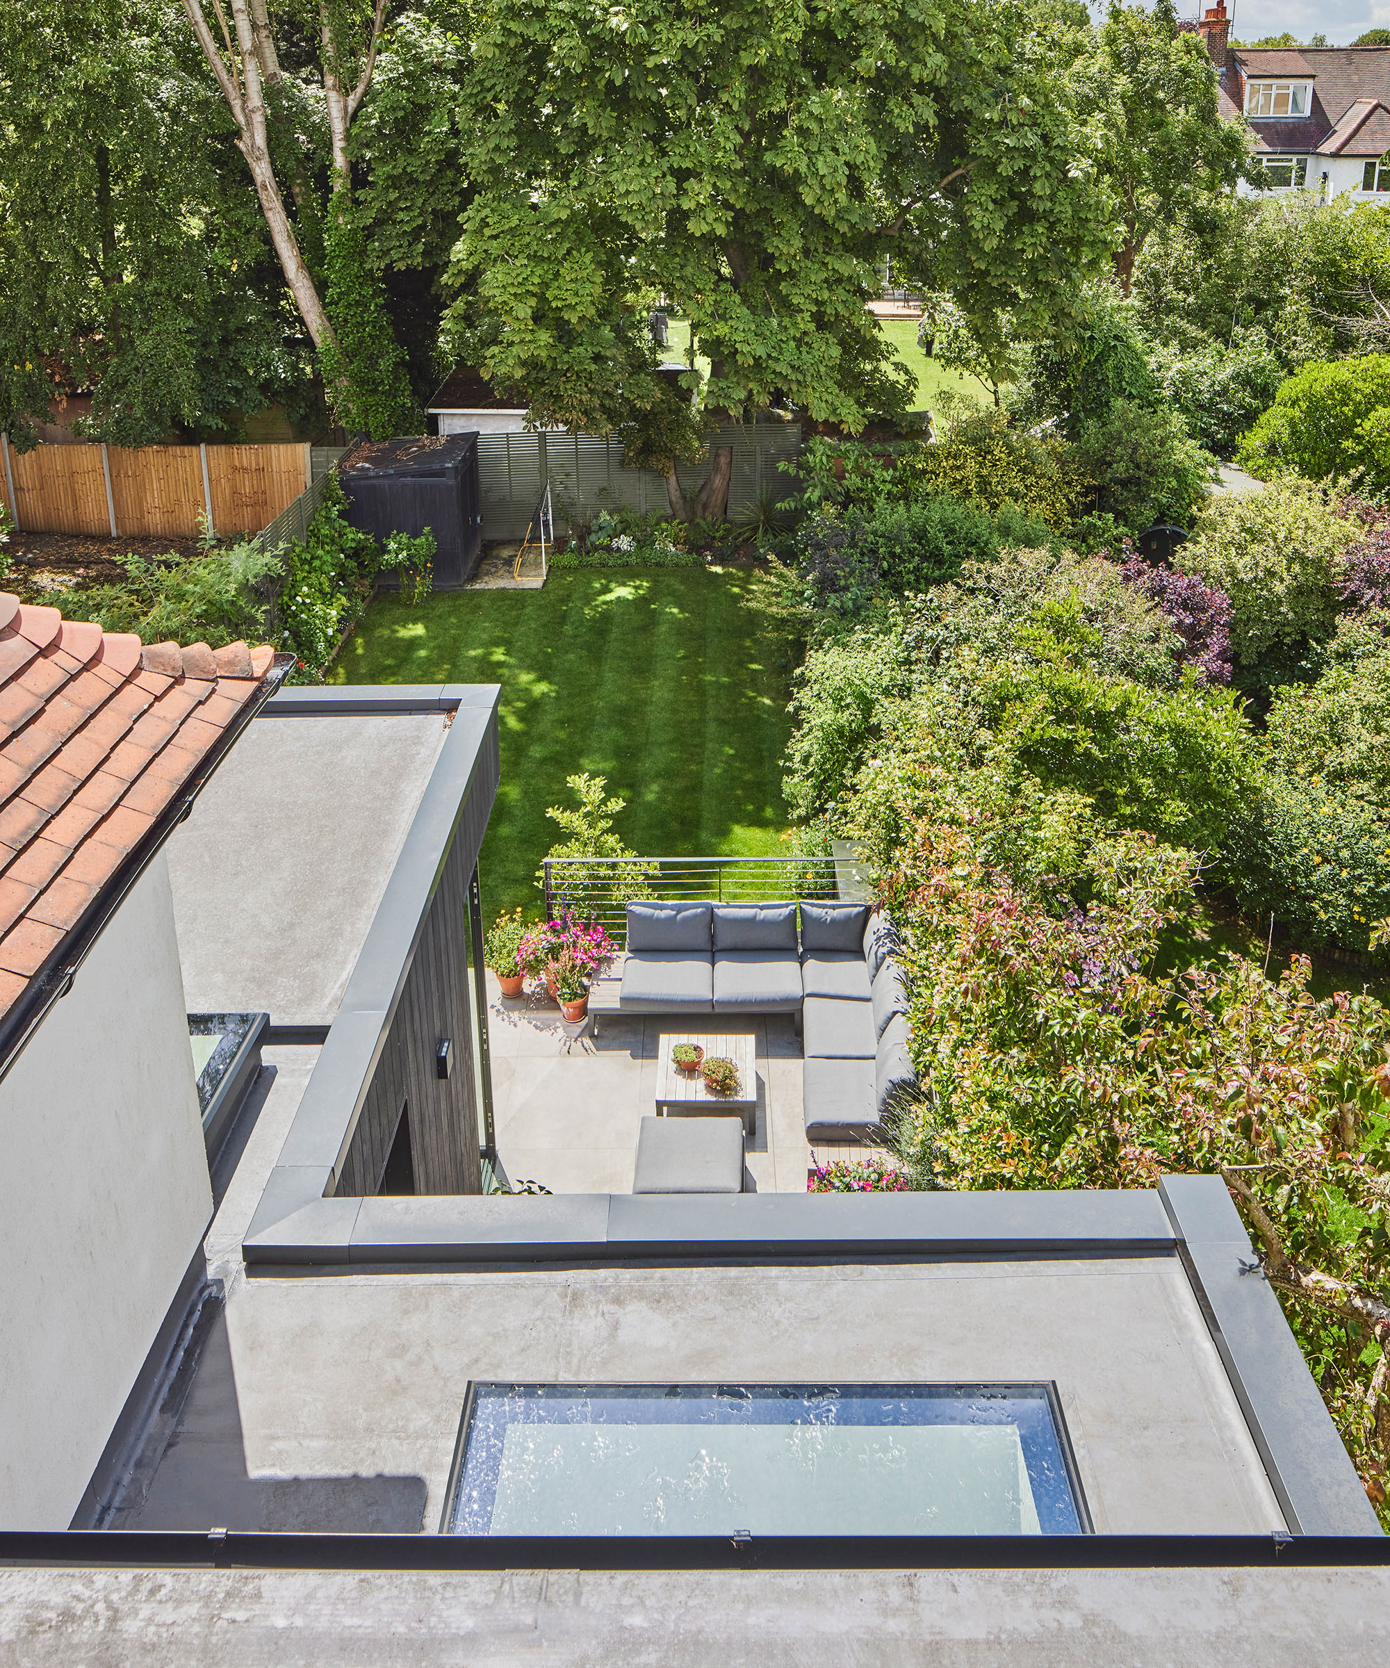
[[[359,951],[334,1022],[270,1171],[247,1238],[285,1233],[304,1263],[347,1261],[360,1199],[330,1198],[414,961],[464,807],[497,789],[497,684],[300,687],[272,702],[275,717],[449,712],[400,856]],[[486,817],[482,826],[486,827]],[[466,854],[469,867],[477,852]]]

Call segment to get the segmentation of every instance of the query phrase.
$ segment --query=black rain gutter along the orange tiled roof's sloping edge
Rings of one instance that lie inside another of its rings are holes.
[[[255,694],[252,694],[222,736],[209,747],[199,767],[159,814],[154,827],[147,829],[120,859],[110,879],[103,882],[92,902],[30,977],[23,996],[0,1019],[0,1081],[3,1081],[5,1074],[23,1053],[28,1039],[43,1022],[53,1002],[67,996],[72,989],[72,981],[78,967],[92,952],[92,946],[105,931],[107,922],[125,902],[127,894],[159,856],[160,847],[174,829],[194,809],[194,801],[202,792],[212,772],[232,751],[247,724],[260,712],[270,696],[275,694],[292,666],[292,654],[275,656],[270,662],[270,671],[257,684]]]

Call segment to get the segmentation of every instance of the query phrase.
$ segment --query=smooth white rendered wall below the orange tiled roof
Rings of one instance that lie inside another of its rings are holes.
[[[0,1528],[68,1526],[210,1216],[160,856],[0,1081]]]

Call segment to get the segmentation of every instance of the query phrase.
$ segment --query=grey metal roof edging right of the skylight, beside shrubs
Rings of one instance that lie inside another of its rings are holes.
[[[1290,1530],[1380,1535],[1226,1184],[1220,1176],[1166,1176],[1158,1196]]]

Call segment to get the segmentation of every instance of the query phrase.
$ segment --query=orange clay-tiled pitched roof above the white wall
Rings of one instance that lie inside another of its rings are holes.
[[[147,647],[0,592],[0,1014],[274,659],[244,642]]]

